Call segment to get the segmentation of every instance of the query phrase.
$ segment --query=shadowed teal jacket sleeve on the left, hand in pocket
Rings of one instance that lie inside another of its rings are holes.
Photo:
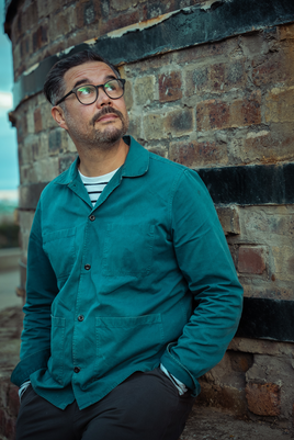
[[[43,250],[39,202],[29,241],[21,361],[11,375],[11,382],[18,386],[27,381],[33,372],[47,365],[50,357],[50,306],[57,293],[57,280]]]

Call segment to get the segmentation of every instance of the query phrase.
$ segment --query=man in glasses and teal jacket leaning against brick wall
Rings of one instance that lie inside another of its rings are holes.
[[[124,136],[124,80],[81,52],[44,92],[78,159],[32,226],[16,439],[177,440],[242,289],[197,173]]]

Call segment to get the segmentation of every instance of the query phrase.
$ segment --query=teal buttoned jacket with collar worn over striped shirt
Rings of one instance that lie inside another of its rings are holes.
[[[59,408],[100,400],[160,362],[200,393],[242,304],[228,246],[197,173],[126,137],[125,163],[95,206],[78,159],[43,191],[27,260],[21,362]]]

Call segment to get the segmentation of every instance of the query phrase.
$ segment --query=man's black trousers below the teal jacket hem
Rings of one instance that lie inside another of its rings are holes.
[[[23,395],[16,440],[178,440],[192,409],[158,368],[137,372],[102,400],[84,409],[74,402],[59,409],[32,386]]]

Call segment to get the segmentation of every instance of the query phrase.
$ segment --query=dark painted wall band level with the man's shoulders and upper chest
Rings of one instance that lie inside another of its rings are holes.
[[[197,173],[216,205],[294,203],[294,163],[251,167],[204,168]],[[20,188],[20,208],[35,210],[47,183]]]

